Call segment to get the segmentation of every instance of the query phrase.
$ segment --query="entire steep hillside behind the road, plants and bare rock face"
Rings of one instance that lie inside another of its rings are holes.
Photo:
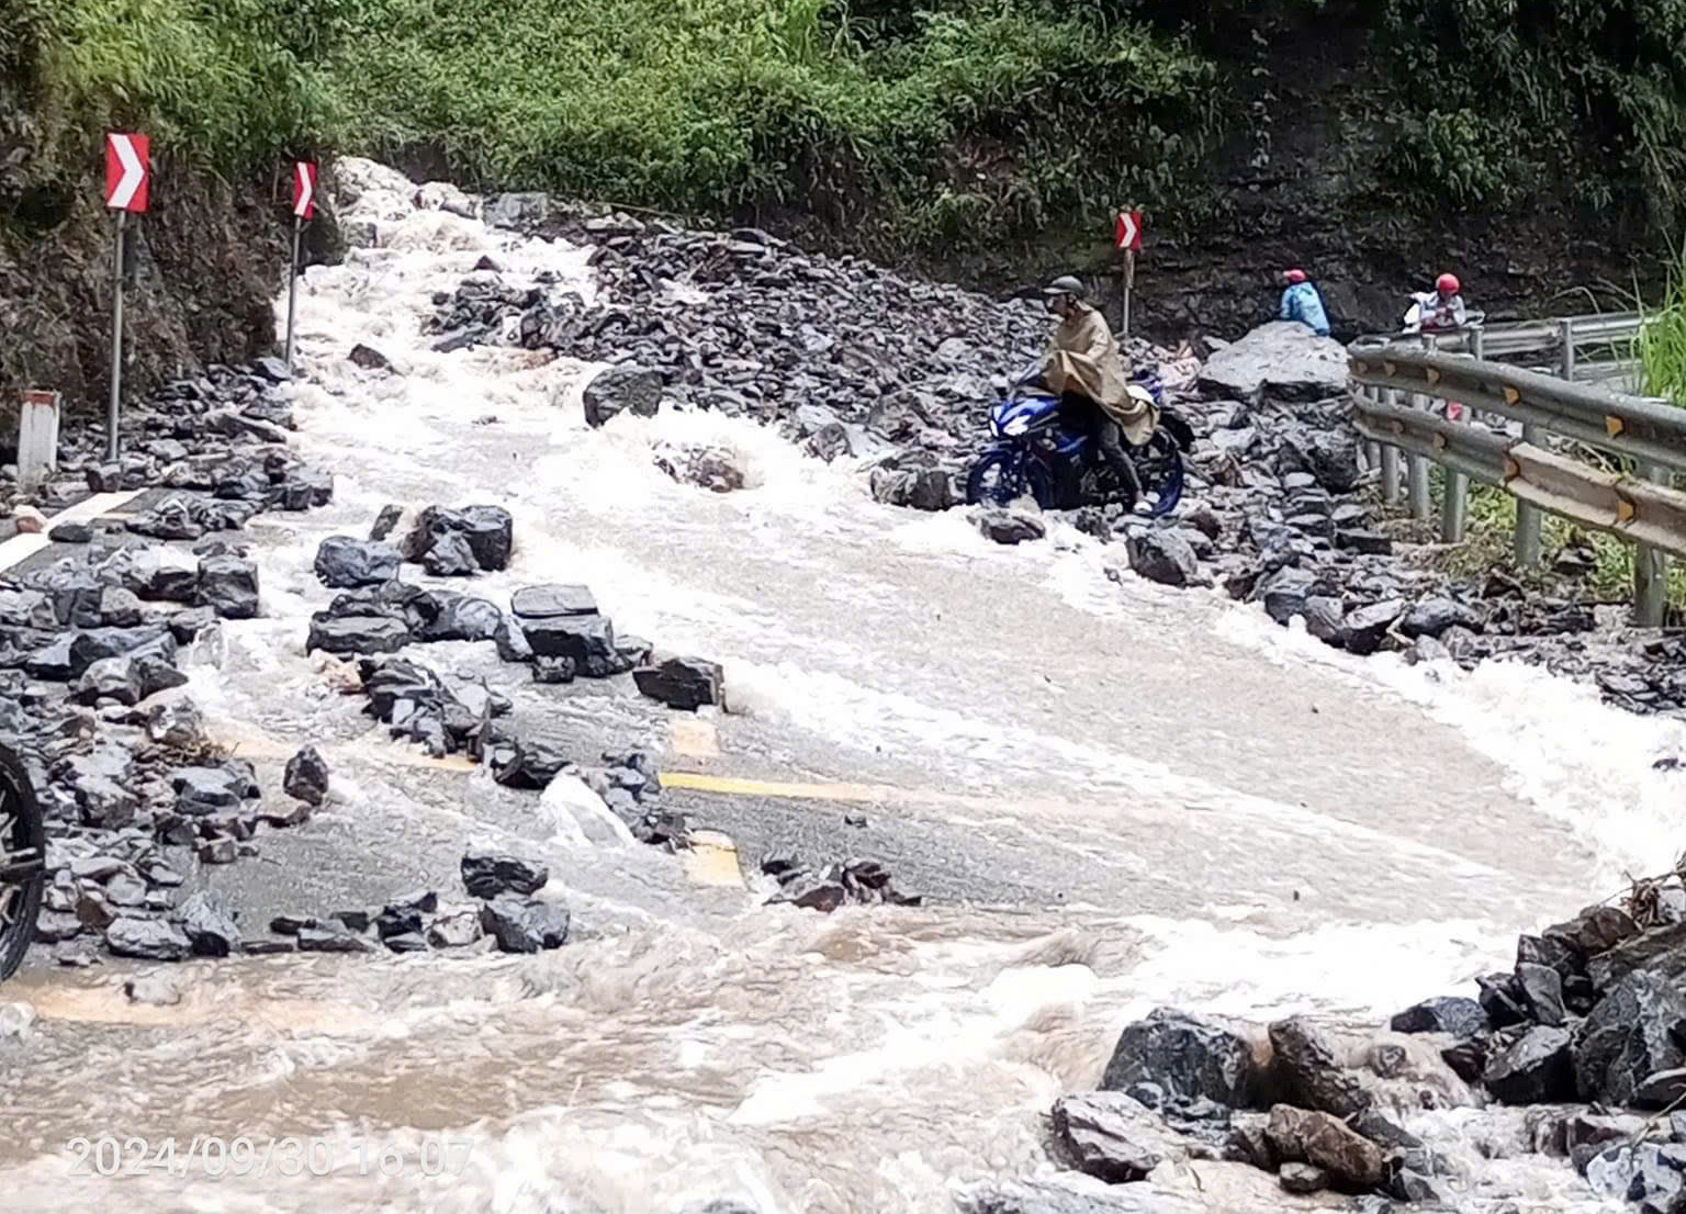
[[[1640,0],[12,0],[0,396],[105,388],[105,130],[153,135],[132,379],[273,341],[288,158],[710,221],[1005,287],[1104,271],[1234,336],[1268,273],[1337,332],[1453,266],[1490,312],[1625,302],[1681,216],[1686,39]],[[320,234],[322,226],[317,228]],[[1597,288],[1566,298],[1571,288]]]

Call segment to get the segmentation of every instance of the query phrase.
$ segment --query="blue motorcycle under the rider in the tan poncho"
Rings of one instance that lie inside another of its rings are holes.
[[[1194,432],[1163,406],[1165,393],[1157,374],[1138,374],[1135,384],[1153,398],[1160,420],[1146,443],[1126,445],[1126,454],[1141,479],[1141,513],[1158,518],[1182,499],[1182,454],[1194,447]],[[990,432],[996,442],[985,449],[966,477],[966,501],[975,506],[1005,506],[1025,494],[1042,509],[1077,509],[1108,501],[1136,504],[1101,454],[1094,406],[1067,410],[1044,383],[1040,361],[1018,378],[1007,400],[990,410]]]

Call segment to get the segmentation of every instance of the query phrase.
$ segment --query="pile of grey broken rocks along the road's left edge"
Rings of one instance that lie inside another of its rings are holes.
[[[0,578],[0,742],[20,754],[47,823],[37,939],[67,964],[99,946],[160,961],[236,951],[221,902],[182,899],[194,867],[255,855],[263,830],[305,821],[325,796],[320,755],[266,794],[179,691],[185,656],[219,620],[261,610],[239,528],[332,497],[332,479],[287,450],[282,383],[285,368],[265,359],[170,384],[128,411],[118,460],[74,428],[57,477],[27,496],[61,509],[167,489],[132,518],[56,526],[51,540],[76,555]],[[27,518],[15,482],[0,502]]]

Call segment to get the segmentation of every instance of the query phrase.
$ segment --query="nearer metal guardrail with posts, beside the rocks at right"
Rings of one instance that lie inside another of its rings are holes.
[[[1416,518],[1430,516],[1428,464],[1447,469],[1442,538],[1463,540],[1469,481],[1517,499],[1516,560],[1539,563],[1541,513],[1607,531],[1639,545],[1634,561],[1635,617],[1662,624],[1667,607],[1666,553],[1686,556],[1686,410],[1667,401],[1622,396],[1561,378],[1477,357],[1406,346],[1350,351],[1359,432],[1379,447],[1383,499],[1399,499],[1399,452]],[[1568,364],[1565,366],[1568,369]],[[1521,423],[1521,435],[1452,422],[1423,408],[1428,400]],[[1581,443],[1629,462],[1614,474],[1554,450]]]

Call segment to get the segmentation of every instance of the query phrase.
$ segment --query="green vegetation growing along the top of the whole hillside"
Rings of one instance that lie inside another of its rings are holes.
[[[1214,206],[1273,73],[1315,86],[1337,40],[1386,71],[1388,199],[1686,214],[1686,0],[5,0],[0,223],[140,126],[231,177],[443,153],[487,187],[990,248]]]

